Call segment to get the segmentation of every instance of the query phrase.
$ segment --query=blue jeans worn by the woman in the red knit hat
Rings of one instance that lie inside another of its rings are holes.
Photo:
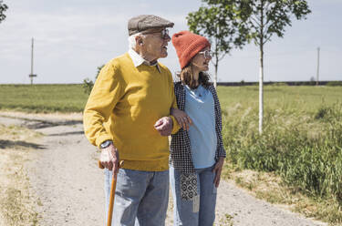
[[[181,200],[181,172],[170,167],[173,196],[173,225],[212,226],[215,220],[217,189],[213,184],[213,167],[196,169],[197,193],[194,200]]]

